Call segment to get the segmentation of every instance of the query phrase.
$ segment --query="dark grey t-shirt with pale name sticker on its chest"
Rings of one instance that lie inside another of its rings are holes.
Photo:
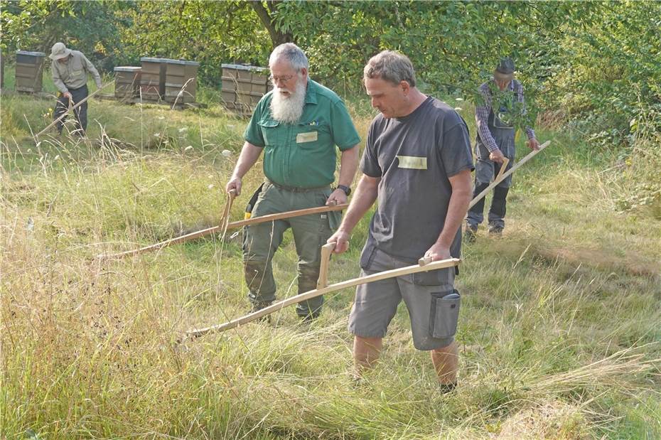
[[[377,116],[367,134],[362,172],[379,177],[378,206],[361,265],[375,247],[404,262],[417,262],[439,238],[452,187],[448,177],[474,169],[468,127],[433,97],[402,118]],[[450,252],[459,257],[461,228]]]

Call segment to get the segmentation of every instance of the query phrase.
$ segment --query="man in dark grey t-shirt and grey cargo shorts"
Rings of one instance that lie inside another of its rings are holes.
[[[328,242],[335,252],[348,249],[351,230],[379,200],[360,258],[362,274],[417,262],[459,257],[461,222],[471,201],[473,157],[468,128],[448,105],[415,87],[409,58],[385,50],[365,66],[365,89],[380,110],[367,134],[363,176],[345,218]],[[355,335],[355,375],[376,362],[387,326],[404,300],[411,317],[413,342],[431,350],[443,390],[456,385],[454,343],[458,292],[454,269],[363,284],[349,318]],[[438,301],[456,302],[441,313]]]

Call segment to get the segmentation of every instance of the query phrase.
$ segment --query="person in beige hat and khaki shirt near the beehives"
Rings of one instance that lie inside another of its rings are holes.
[[[82,52],[68,49],[64,43],[55,43],[48,58],[53,60],[50,63],[50,70],[55,87],[60,90],[60,97],[53,113],[53,118],[58,119],[67,111],[70,101],[75,105],[87,97],[87,73],[92,74],[97,88],[101,88],[101,76]],[[77,107],[74,113],[77,121],[76,131],[83,136],[87,129],[87,102]],[[58,122],[58,133],[62,133],[63,126],[63,121]]]

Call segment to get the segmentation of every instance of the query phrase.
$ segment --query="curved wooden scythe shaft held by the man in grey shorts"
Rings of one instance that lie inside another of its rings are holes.
[[[342,281],[340,283],[331,284],[330,286],[323,287],[323,289],[314,289],[307,291],[304,294],[292,296],[291,298],[284,299],[279,301],[276,304],[262,308],[261,310],[254,311],[242,316],[241,318],[234,319],[232,321],[226,322],[224,324],[219,324],[217,326],[210,326],[205,328],[195,328],[186,332],[188,336],[198,337],[203,336],[207,333],[220,333],[222,331],[230,330],[230,328],[235,328],[242,326],[256,319],[262,318],[262,316],[267,316],[271,313],[281,310],[286,306],[291,306],[292,304],[298,304],[301,301],[307,301],[308,299],[316,298],[324,294],[330,294],[333,291],[338,291],[341,289],[346,289],[348,287],[358,286],[359,284],[372,283],[374,281],[380,281],[382,279],[402,277],[402,275],[416,274],[418,272],[428,272],[430,270],[444,269],[446,267],[455,267],[461,262],[458,258],[449,258],[441,259],[436,262],[430,262],[421,266],[419,264],[414,264],[413,266],[402,267],[400,269],[387,270],[385,272],[377,272],[376,274],[367,275],[365,277],[358,277],[354,279],[349,279],[347,281]]]

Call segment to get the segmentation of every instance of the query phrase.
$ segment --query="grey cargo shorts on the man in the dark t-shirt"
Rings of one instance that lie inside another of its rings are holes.
[[[378,249],[361,260],[361,277],[411,265]],[[403,299],[415,348],[434,350],[450,345],[456,333],[460,301],[453,286],[454,276],[455,268],[450,267],[361,284],[356,288],[349,332],[362,338],[383,338]]]

